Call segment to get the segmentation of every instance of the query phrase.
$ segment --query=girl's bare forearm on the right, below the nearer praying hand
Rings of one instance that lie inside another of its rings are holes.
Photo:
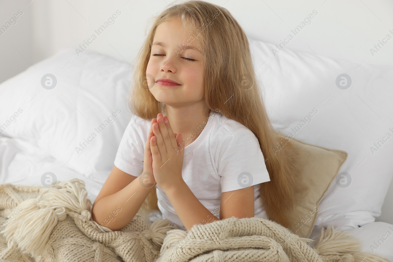
[[[219,220],[202,205],[184,181],[176,187],[167,189],[165,194],[187,230],[196,224],[208,224]]]

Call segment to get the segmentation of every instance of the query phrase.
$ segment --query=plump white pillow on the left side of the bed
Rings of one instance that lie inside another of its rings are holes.
[[[62,49],[0,84],[0,133],[103,183],[131,117],[125,104],[131,72],[127,62]],[[48,73],[55,76],[53,89],[45,85]]]

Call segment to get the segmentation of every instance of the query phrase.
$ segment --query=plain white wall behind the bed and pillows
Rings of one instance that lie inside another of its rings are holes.
[[[166,2],[165,2],[166,1]],[[285,48],[369,64],[391,64],[393,39],[377,53],[370,48],[393,36],[393,1],[389,0],[215,0],[254,38],[279,44],[313,10],[318,12]],[[145,37],[147,21],[168,0],[23,0],[0,1],[0,27],[22,10],[17,23],[0,35],[0,82],[60,48],[79,48],[116,10],[115,23],[87,49],[130,64]],[[389,32],[389,29],[392,32]],[[392,83],[393,84],[393,83]],[[393,88],[393,86],[392,86]],[[393,223],[393,181],[377,221]]]

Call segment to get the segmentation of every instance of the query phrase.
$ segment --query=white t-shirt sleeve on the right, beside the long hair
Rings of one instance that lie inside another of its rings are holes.
[[[219,153],[221,192],[270,181],[261,147],[251,130],[233,132],[224,141]]]

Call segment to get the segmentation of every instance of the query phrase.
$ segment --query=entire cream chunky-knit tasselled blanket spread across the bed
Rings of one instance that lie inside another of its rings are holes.
[[[8,262],[389,262],[360,253],[345,231],[322,229],[316,246],[263,218],[227,218],[189,231],[143,216],[119,231],[92,220],[84,181],[52,188],[0,184],[0,261]]]

